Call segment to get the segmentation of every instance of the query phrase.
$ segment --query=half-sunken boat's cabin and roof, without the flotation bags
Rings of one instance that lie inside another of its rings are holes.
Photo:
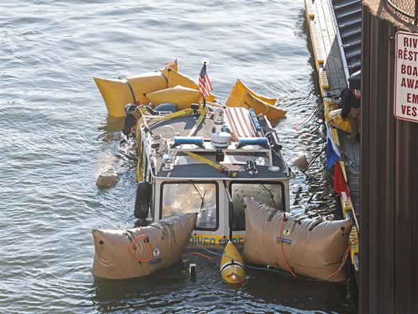
[[[142,108],[135,216],[199,212],[191,245],[245,241],[243,197],[289,211],[291,170],[266,117],[242,107]]]

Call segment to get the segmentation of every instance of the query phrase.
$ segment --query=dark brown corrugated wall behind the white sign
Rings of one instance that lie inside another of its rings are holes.
[[[382,2],[363,5],[359,313],[418,313],[418,123],[393,113],[405,28]]]

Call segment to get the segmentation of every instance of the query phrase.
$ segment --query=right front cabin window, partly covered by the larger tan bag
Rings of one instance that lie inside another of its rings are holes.
[[[245,230],[244,197],[249,195],[258,202],[284,211],[284,186],[281,182],[240,182],[231,184],[233,202],[233,230]]]

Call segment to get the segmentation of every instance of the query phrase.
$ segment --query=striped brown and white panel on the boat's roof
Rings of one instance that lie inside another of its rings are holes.
[[[238,142],[238,137],[258,137],[249,110],[242,107],[228,107],[224,112],[234,142]]]

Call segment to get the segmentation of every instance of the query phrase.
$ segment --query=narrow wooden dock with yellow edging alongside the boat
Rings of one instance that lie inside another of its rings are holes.
[[[330,95],[339,95],[341,90],[347,87],[344,77],[344,68],[341,62],[338,43],[336,40],[336,29],[332,22],[332,8],[328,0],[304,0],[305,13],[309,25],[309,37],[311,40],[312,51],[314,53],[315,66],[318,72],[318,83],[321,96],[323,96],[325,117],[327,112],[335,110],[337,105],[333,103]],[[325,118],[325,124],[326,118]],[[359,145],[353,145],[345,141],[346,134],[342,134],[336,128],[330,128],[332,139],[336,145],[343,148],[353,159],[354,163],[359,165],[359,158],[355,158],[354,152],[359,150]],[[341,135],[341,136],[340,136]],[[358,154],[357,154],[358,155]],[[343,200],[340,197],[341,208],[345,218],[353,218],[355,226],[350,232],[350,262],[354,269],[358,269],[359,223],[356,216],[359,211],[359,177],[353,174],[353,167],[349,166],[343,160],[339,161],[344,178],[350,188],[351,197]]]

